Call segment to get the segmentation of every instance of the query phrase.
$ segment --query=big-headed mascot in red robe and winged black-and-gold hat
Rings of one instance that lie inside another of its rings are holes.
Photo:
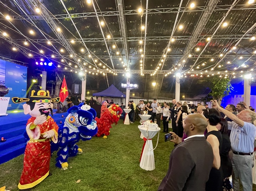
[[[30,91],[29,98],[12,98],[14,103],[27,102],[23,104],[24,114],[31,115],[26,124],[26,132],[30,140],[25,149],[19,189],[32,188],[49,175],[50,142],[58,141],[58,125],[49,113],[52,114],[52,102],[59,100],[60,98],[52,99],[49,92],[43,90]]]

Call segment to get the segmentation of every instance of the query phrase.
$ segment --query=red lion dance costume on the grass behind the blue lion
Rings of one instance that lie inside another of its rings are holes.
[[[98,125],[98,133],[97,137],[103,136],[103,138],[107,138],[110,133],[110,128],[112,128],[112,124],[117,124],[123,110],[116,104],[112,104],[104,113],[100,116],[100,118],[96,117],[97,125]]]

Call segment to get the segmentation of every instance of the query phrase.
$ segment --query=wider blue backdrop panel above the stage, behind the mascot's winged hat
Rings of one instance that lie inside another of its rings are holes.
[[[27,67],[6,62],[5,69],[5,86],[8,87],[9,93],[6,97],[24,97],[27,91]],[[22,104],[14,104],[11,100],[8,109],[22,108]]]

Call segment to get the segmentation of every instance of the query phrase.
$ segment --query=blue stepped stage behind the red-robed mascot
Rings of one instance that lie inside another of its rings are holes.
[[[60,121],[64,122],[68,113],[55,113],[53,110],[55,122],[60,125]],[[26,129],[26,123],[31,117],[25,115],[23,109],[8,110],[8,116],[0,116],[0,138],[4,137],[6,142],[0,142],[0,164],[9,161],[24,153],[26,142],[23,133]],[[62,115],[64,117],[62,117]]]

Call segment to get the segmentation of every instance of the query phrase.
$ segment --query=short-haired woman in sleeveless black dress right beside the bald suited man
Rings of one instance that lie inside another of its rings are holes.
[[[223,175],[220,165],[220,150],[222,148],[222,136],[216,125],[221,121],[220,112],[216,109],[206,109],[203,115],[208,121],[206,140],[211,144],[213,150],[213,165],[209,179],[206,182],[206,191],[222,191]]]

